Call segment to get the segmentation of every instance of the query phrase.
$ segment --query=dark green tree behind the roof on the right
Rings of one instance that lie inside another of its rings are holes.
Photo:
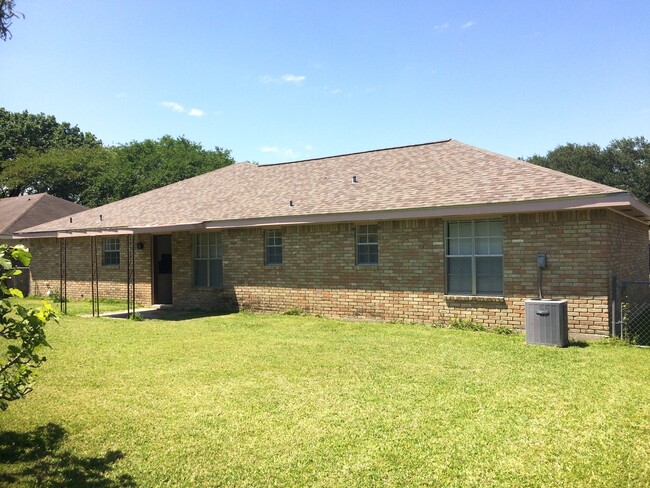
[[[650,204],[650,142],[644,137],[615,139],[604,149],[565,144],[528,161],[629,191]]]

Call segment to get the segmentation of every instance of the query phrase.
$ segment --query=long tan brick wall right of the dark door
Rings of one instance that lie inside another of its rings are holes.
[[[536,256],[545,252],[544,296],[569,301],[573,334],[607,335],[610,275],[643,266],[647,273],[647,228],[609,210],[503,221],[504,298],[445,296],[444,221],[424,219],[379,222],[377,266],[355,265],[353,224],[284,227],[283,263],[274,266],[264,265],[262,229],[224,231],[222,289],[192,288],[191,235],[175,234],[174,303],[425,323],[471,318],[523,329],[524,302],[538,297]]]

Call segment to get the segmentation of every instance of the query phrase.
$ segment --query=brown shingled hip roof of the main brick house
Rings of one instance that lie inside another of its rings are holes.
[[[650,222],[650,208],[628,192],[448,140],[274,165],[238,163],[33,227],[24,235],[597,207]]]

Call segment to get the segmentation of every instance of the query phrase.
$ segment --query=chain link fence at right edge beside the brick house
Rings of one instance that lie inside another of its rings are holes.
[[[650,282],[621,283],[622,337],[639,346],[650,346]]]

